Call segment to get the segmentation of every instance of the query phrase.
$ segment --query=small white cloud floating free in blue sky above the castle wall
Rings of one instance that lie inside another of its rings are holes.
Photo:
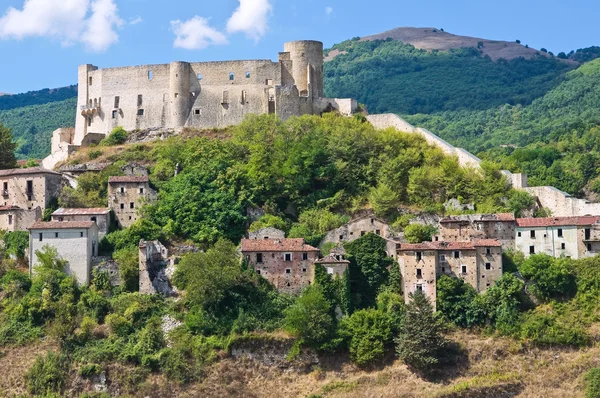
[[[185,22],[171,21],[175,35],[173,47],[186,50],[201,50],[210,45],[227,44],[227,37],[211,27],[206,18],[195,16]]]

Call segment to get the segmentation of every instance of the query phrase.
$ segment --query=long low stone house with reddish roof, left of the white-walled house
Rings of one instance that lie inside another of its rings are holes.
[[[497,239],[505,249],[514,247],[515,216],[512,213],[466,214],[440,220],[434,240],[468,242],[473,239]]]

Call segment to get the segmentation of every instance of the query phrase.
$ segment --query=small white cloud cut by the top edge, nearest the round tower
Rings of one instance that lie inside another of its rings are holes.
[[[227,21],[227,32],[244,32],[255,41],[267,32],[269,14],[273,10],[270,0],[239,0],[240,6]]]

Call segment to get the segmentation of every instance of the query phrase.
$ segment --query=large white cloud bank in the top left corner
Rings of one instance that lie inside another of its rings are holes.
[[[114,0],[25,0],[0,18],[0,39],[51,37],[104,51],[118,41],[122,23]]]

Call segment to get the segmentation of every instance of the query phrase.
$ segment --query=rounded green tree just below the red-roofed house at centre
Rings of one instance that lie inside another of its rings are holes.
[[[284,312],[285,330],[306,344],[318,347],[332,335],[334,320],[331,307],[319,287],[309,287]]]

